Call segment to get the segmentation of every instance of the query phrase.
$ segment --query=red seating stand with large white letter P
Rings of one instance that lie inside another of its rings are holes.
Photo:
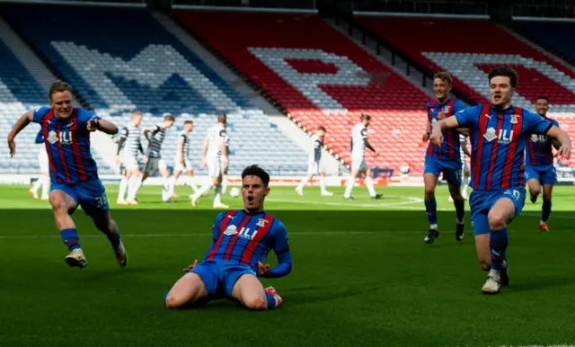
[[[326,125],[327,147],[350,163],[350,129],[374,117],[368,165],[422,173],[420,133],[429,96],[313,13],[174,10],[199,40],[270,101],[313,131]],[[416,129],[416,130],[414,130]],[[406,149],[407,148],[407,149]]]

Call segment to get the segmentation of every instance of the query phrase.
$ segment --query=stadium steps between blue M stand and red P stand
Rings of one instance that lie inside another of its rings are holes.
[[[232,69],[223,63],[224,59],[218,58],[212,53],[205,45],[196,40],[191,34],[182,28],[177,21],[169,15],[160,13],[158,11],[150,12],[157,22],[162,24],[164,28],[171,32],[181,43],[201,58],[217,75],[226,81],[228,85],[234,87],[237,93],[242,94],[248,99],[255,107],[261,109],[266,116],[269,117],[270,122],[275,123],[278,128],[291,138],[299,147],[305,151],[309,150],[310,136],[314,134],[314,130],[305,132],[300,129],[294,121],[274,107],[270,102],[264,99],[261,94],[256,91],[252,86],[246,84],[241,76],[234,73]],[[340,161],[332,155],[332,153],[322,148],[322,162],[328,174],[339,174],[341,167]]]

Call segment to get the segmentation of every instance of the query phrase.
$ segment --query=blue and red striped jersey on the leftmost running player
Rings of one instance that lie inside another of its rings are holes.
[[[58,120],[49,107],[34,111],[32,121],[40,123],[52,182],[74,184],[98,178],[98,168],[90,153],[90,131],[86,126],[88,120],[99,119],[84,109],[74,109],[66,120]]]

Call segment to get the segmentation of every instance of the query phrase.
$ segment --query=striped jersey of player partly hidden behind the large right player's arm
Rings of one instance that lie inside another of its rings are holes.
[[[449,98],[447,102],[443,104],[439,104],[439,102],[433,101],[428,102],[425,106],[426,111],[428,112],[428,120],[431,122],[431,125],[435,124],[438,121],[438,112],[443,111],[447,117],[451,117],[452,115],[456,114],[456,112],[464,110],[465,105],[463,102],[460,102],[456,98]],[[437,159],[447,159],[447,160],[461,160],[460,154],[460,142],[459,142],[459,133],[456,129],[446,130],[443,133],[443,144],[441,147],[438,145],[434,145],[429,142],[428,150],[426,151],[426,155],[428,157],[434,157]]]

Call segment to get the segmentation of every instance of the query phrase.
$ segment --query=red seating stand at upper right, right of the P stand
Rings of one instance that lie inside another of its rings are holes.
[[[575,134],[575,71],[488,20],[367,15],[356,19],[425,69],[451,72],[456,92],[473,104],[489,98],[487,71],[501,65],[515,68],[517,106],[534,110],[537,95],[544,93],[551,99],[550,116]]]

